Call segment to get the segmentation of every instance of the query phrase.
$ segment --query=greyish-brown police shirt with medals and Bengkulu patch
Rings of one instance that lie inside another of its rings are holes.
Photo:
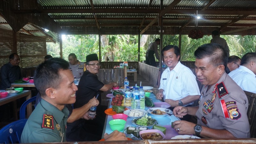
[[[226,129],[236,138],[250,138],[248,99],[244,91],[226,73],[208,91],[207,88],[201,92],[197,124]]]

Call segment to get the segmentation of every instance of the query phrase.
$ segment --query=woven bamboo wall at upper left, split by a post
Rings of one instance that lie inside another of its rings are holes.
[[[0,67],[9,62],[13,53],[12,31],[0,29]],[[46,39],[27,34],[17,34],[17,54],[20,56],[21,68],[37,66],[44,61],[47,54]]]

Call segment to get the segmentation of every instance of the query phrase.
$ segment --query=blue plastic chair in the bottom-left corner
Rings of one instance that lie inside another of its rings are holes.
[[[0,143],[20,143],[21,133],[28,119],[21,119],[0,130]]]

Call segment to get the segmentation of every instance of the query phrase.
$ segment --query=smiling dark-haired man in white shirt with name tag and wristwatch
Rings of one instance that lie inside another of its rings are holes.
[[[196,76],[179,61],[180,50],[176,45],[167,45],[162,50],[165,64],[168,66],[161,76],[159,92],[156,99],[164,99],[172,108],[176,106],[191,106],[200,98]],[[171,108],[171,110],[172,110]],[[183,117],[189,120],[190,116]]]

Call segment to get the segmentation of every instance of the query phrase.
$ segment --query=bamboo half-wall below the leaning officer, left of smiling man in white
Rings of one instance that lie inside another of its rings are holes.
[[[156,85],[157,85],[158,72],[159,72],[159,68],[139,62],[140,76],[142,76],[143,78],[148,80],[150,84],[154,85],[154,87],[156,87]]]

